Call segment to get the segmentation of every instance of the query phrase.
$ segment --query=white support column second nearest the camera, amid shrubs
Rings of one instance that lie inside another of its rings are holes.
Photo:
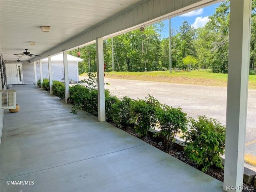
[[[104,59],[103,59],[103,39],[96,39],[97,56],[97,82],[98,82],[98,120],[106,120],[105,111],[105,88],[104,88]]]

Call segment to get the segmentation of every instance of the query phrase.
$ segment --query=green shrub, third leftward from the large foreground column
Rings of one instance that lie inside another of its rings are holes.
[[[153,96],[148,95],[146,100],[138,99],[132,103],[134,112],[134,132],[140,136],[148,135],[149,129],[155,129],[157,118],[156,111],[161,107],[160,102]]]

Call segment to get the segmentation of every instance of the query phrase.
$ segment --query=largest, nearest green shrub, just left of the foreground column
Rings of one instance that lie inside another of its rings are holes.
[[[191,130],[185,137],[185,152],[205,172],[210,166],[223,168],[220,154],[224,154],[225,127],[216,119],[198,116],[198,121],[190,118]]]

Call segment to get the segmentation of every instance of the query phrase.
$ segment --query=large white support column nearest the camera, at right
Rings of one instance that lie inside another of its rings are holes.
[[[250,55],[251,0],[230,1],[225,191],[242,191]]]

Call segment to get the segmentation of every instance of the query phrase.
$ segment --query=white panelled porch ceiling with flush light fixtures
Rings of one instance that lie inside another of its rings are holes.
[[[148,0],[0,0],[0,50],[4,60],[14,54],[40,55]],[[51,26],[41,32],[40,26]],[[36,45],[31,46],[30,41]],[[20,60],[31,60],[22,56]]]

